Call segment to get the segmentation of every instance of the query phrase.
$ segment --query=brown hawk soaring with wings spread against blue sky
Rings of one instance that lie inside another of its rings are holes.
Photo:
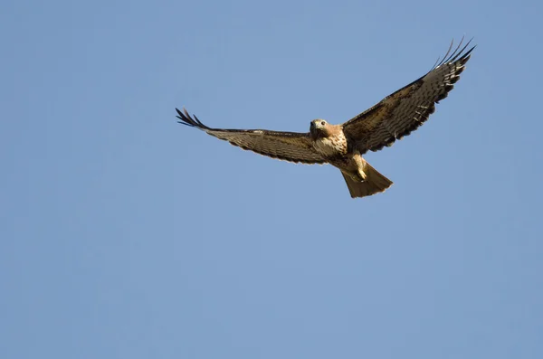
[[[453,83],[460,79],[470,59],[469,44],[445,54],[433,70],[404,88],[395,91],[375,106],[341,125],[324,119],[311,121],[310,132],[277,132],[267,129],[208,128],[186,109],[177,111],[179,123],[199,128],[208,135],[224,139],[234,146],[304,164],[330,164],[339,168],[351,197],[383,192],[392,181],[381,175],[362,157],[367,150],[378,151],[392,146],[396,139],[409,135],[435,110],[435,103],[447,97]]]

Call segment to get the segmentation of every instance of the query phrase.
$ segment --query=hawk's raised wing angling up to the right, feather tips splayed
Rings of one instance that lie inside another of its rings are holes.
[[[461,41],[449,55],[451,43],[443,60],[432,71],[345,122],[343,131],[357,144],[360,153],[392,146],[396,139],[421,126],[433,114],[434,103],[446,98],[452,84],[460,79],[459,75],[475,48],[465,51],[470,43],[471,40],[460,50]]]

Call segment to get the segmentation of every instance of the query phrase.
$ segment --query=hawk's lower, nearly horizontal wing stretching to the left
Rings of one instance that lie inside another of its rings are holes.
[[[196,117],[192,118],[186,109],[176,109],[179,123],[199,128],[208,135],[224,139],[233,146],[256,152],[263,156],[304,164],[323,164],[326,162],[314,149],[309,133],[276,132],[266,129],[224,129],[208,128]]]

